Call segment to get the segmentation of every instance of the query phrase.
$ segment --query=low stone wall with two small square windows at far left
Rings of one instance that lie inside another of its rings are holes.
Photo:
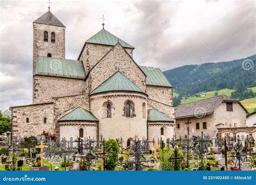
[[[29,118],[29,122],[26,122]],[[43,122],[46,118],[46,123]],[[29,105],[12,109],[12,136],[41,135],[43,131],[53,133],[53,104]]]

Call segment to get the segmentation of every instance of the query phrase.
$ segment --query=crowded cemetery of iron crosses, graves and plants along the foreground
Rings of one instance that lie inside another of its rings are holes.
[[[256,170],[253,138],[62,138],[0,141],[0,170]]]

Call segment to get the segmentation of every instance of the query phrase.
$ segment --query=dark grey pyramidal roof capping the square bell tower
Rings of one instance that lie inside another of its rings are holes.
[[[55,17],[50,11],[44,13],[44,15],[36,19],[34,23],[65,27],[65,25],[62,24],[62,22],[60,22],[59,19],[57,19],[57,17]]]

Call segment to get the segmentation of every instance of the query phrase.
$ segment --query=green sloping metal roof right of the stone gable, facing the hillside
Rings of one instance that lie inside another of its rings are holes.
[[[172,87],[160,68],[139,66],[146,74],[146,85]]]

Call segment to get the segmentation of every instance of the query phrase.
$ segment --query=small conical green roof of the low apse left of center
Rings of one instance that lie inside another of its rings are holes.
[[[98,119],[86,109],[77,107],[58,119],[58,121],[98,121]]]

